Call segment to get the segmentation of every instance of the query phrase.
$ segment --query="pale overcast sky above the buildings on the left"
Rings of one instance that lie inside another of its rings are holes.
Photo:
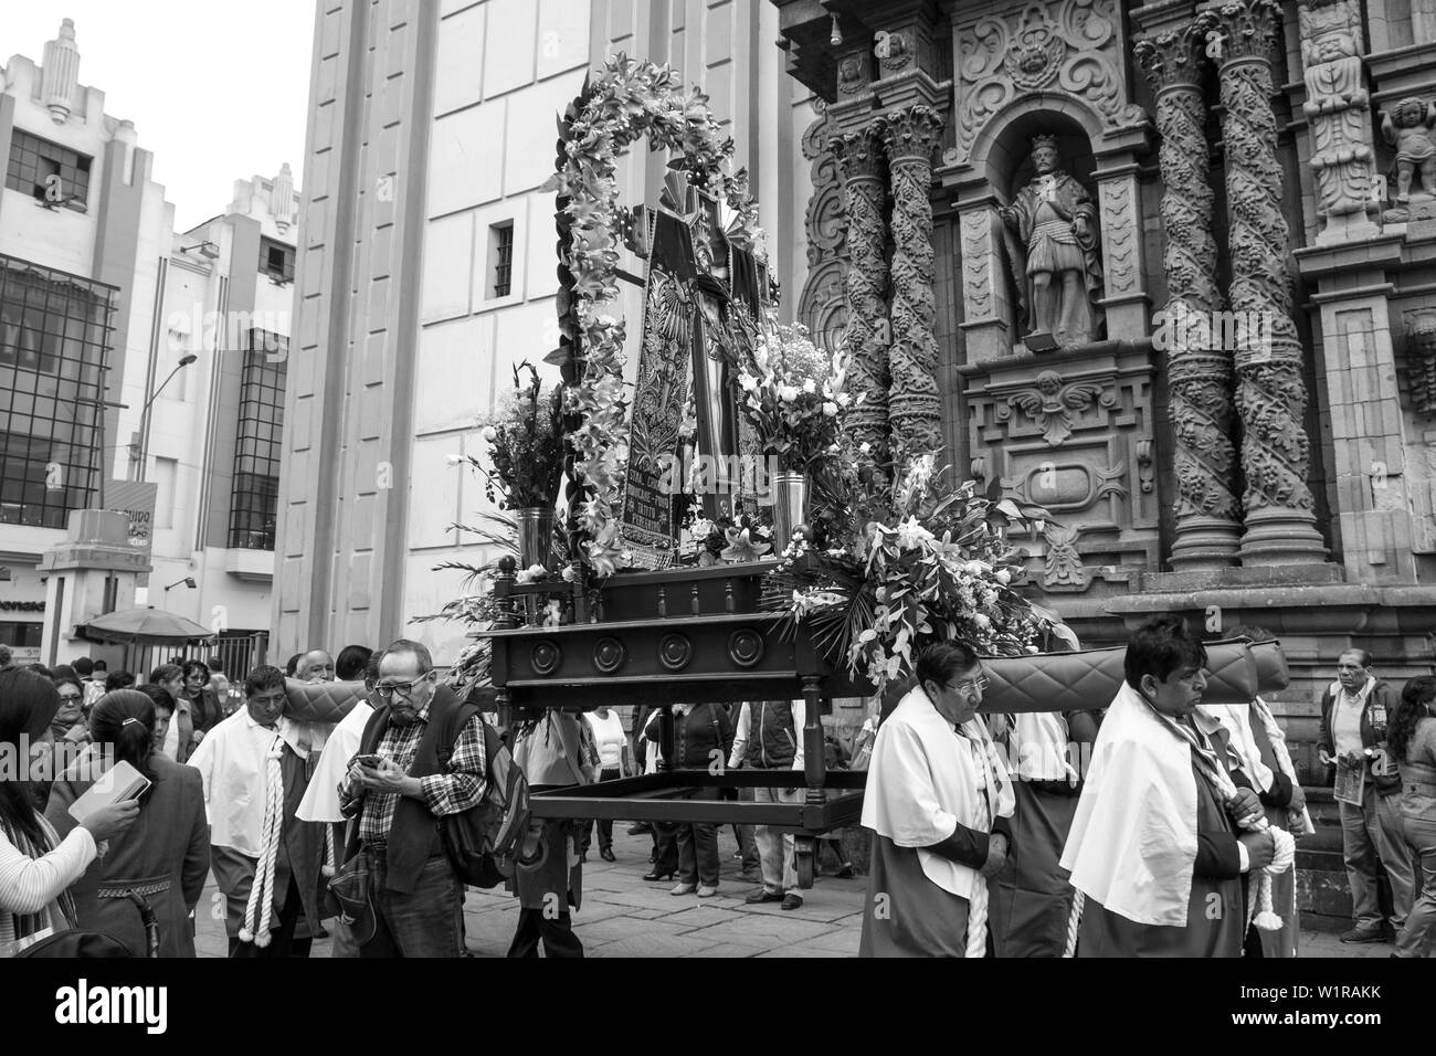
[[[4,0],[0,63],[40,65],[75,20],[80,83],[135,122],[175,230],[223,213],[236,180],[287,161],[304,178],[313,0]]]

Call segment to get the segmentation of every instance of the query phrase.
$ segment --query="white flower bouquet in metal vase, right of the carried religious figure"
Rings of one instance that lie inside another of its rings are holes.
[[[806,473],[830,454],[852,402],[846,376],[846,359],[819,349],[801,323],[770,323],[760,335],[738,368],[740,407],[778,468]]]

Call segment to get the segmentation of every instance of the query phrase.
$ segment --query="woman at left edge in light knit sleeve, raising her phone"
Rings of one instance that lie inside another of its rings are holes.
[[[32,671],[0,671],[0,957],[75,927],[67,889],[139,815],[134,802],[101,807],[62,840],[34,809],[32,747],[46,746],[60,695]],[[43,759],[43,756],[42,756]]]

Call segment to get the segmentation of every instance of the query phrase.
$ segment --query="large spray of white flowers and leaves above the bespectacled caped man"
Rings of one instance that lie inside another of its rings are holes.
[[[1022,550],[1005,524],[1041,526],[1040,506],[952,487],[933,455],[889,477],[850,441],[814,474],[810,532],[765,585],[765,608],[806,621],[820,649],[879,694],[910,678],[918,649],[961,638],[981,652],[1037,652],[1055,616],[1017,593]],[[877,481],[873,488],[873,481]]]

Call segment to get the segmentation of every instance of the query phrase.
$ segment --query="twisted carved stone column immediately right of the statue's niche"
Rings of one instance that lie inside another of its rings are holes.
[[[1155,320],[1167,356],[1176,441],[1178,572],[1235,565],[1241,536],[1236,450],[1232,444],[1232,353],[1212,346],[1216,243],[1208,185],[1202,33],[1190,24],[1137,40],[1134,55],[1152,83],[1162,135],[1162,228],[1167,303]]]

